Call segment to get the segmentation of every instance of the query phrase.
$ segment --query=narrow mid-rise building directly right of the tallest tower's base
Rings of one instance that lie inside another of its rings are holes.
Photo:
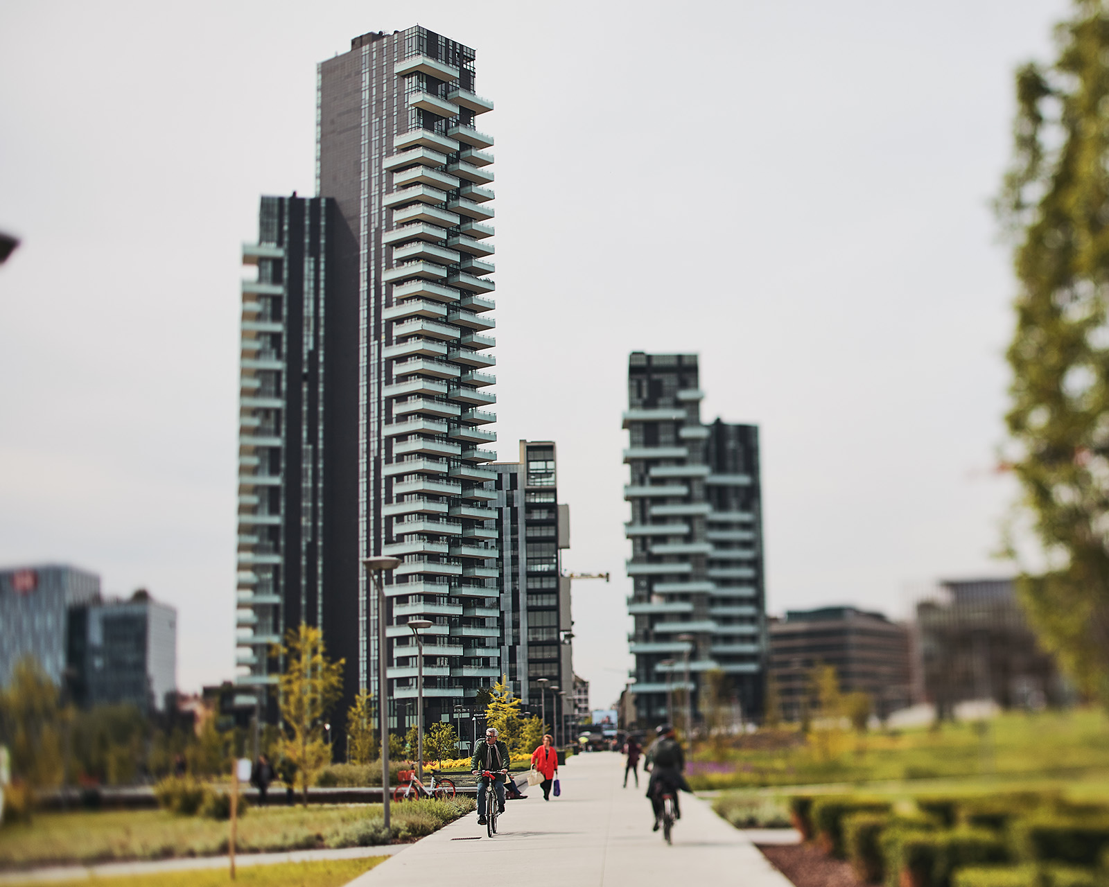
[[[518,462],[491,468],[500,532],[501,672],[533,713],[547,693],[553,725],[572,714],[573,701],[570,579],[561,563],[570,547],[570,508],[558,503],[554,441],[521,440]],[[557,690],[567,692],[564,713]]]

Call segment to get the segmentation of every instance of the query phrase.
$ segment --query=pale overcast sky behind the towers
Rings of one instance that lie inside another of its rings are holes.
[[[497,110],[497,411],[559,445],[576,670],[630,664],[628,353],[762,429],[769,609],[908,612],[991,559],[1014,292],[987,203],[1062,0],[11,0],[0,29],[0,563],[180,612],[233,672],[238,248],[314,190],[315,64],[420,23]],[[2,626],[0,626],[2,630]]]

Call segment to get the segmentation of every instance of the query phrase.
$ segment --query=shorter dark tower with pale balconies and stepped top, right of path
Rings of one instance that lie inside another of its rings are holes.
[[[694,716],[701,676],[713,670],[728,676],[745,717],[763,708],[759,429],[720,419],[703,425],[701,399],[696,355],[629,358],[624,499],[635,655],[629,690],[641,725],[675,720],[668,691],[686,686],[686,669]]]

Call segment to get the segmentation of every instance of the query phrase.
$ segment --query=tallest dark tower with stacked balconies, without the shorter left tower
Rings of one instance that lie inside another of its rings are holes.
[[[416,717],[409,619],[434,623],[423,632],[426,723],[467,708],[479,675],[499,666],[499,619],[487,615],[499,604],[485,467],[496,453],[484,449],[496,440],[492,139],[476,125],[491,110],[475,92],[474,50],[426,28],[355,38],[317,70],[317,191],[334,204],[326,440],[313,468],[327,553],[316,610],[308,597],[297,615],[317,619],[346,659],[343,713],[376,686],[386,621],[397,730]],[[306,470],[286,458],[282,482]],[[403,559],[384,613],[359,562],[380,553]]]

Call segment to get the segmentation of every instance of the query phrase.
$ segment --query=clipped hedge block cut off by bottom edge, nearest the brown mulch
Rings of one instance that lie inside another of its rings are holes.
[[[886,884],[949,887],[964,866],[1008,863],[1009,849],[997,835],[980,829],[944,832],[889,829],[882,838]]]

